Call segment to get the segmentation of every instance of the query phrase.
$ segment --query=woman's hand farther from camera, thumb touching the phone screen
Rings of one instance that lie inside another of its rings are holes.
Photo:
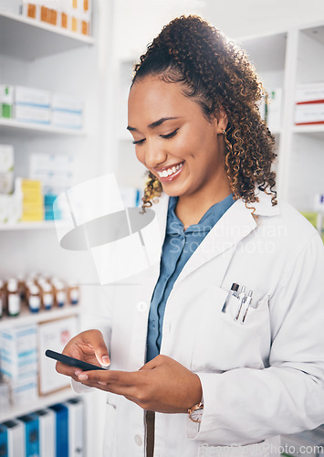
[[[108,349],[99,330],[87,330],[74,336],[65,346],[62,354],[98,367],[110,365]],[[82,373],[79,368],[68,367],[62,362],[57,362],[56,368],[58,373],[73,377],[75,381],[79,381],[78,375]]]

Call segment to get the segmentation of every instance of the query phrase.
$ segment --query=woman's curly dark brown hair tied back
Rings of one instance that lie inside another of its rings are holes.
[[[277,205],[276,173],[271,171],[277,157],[275,139],[259,112],[267,93],[246,54],[201,17],[181,16],[163,27],[148,46],[134,67],[132,85],[156,75],[182,83],[183,94],[193,97],[209,121],[220,108],[225,110],[225,171],[234,199],[242,198],[246,207],[258,201],[257,186]],[[161,193],[160,181],[149,172],[143,209]]]

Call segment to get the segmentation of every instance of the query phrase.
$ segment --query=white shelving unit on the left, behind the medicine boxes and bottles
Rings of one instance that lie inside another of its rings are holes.
[[[101,21],[110,21],[110,11],[96,0],[93,2],[94,37],[86,37],[53,27],[23,16],[0,11],[0,84],[35,87],[51,92],[66,93],[85,101],[84,129],[57,128],[13,119],[0,119],[0,143],[12,143],[15,148],[15,174],[28,175],[29,154],[74,154],[76,163],[75,182],[82,182],[89,175],[100,175],[100,120],[102,111],[102,88],[99,68],[100,56],[106,56],[109,44],[98,45]],[[107,26],[107,22],[105,22]],[[109,65],[109,62],[107,62]],[[100,67],[101,66],[101,67]],[[59,248],[54,221],[21,222],[0,225],[0,256],[3,259],[0,278],[15,274],[48,272],[62,279],[77,278],[76,268],[89,258],[69,262],[68,252]],[[64,222],[62,222],[64,225]],[[83,283],[83,282],[82,282]],[[96,300],[96,287],[81,288],[81,303],[78,306],[41,311],[31,314],[23,310],[16,318],[0,319],[0,330],[22,324],[43,323],[47,320],[78,316],[79,329],[84,328],[82,314]],[[90,290],[89,290],[90,289]],[[71,388],[39,397],[37,401],[1,409],[0,421],[13,419],[22,414],[65,401],[76,394]],[[85,399],[86,450],[85,455],[99,455],[100,443],[96,439],[99,424],[96,395]],[[104,401],[100,399],[100,404]]]

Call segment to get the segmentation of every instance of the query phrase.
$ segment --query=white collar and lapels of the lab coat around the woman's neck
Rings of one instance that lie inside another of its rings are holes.
[[[272,207],[270,195],[260,191],[256,195],[259,198],[258,202],[249,204],[246,207],[245,202],[240,198],[227,209],[224,216],[218,220],[202,243],[193,252],[192,257],[184,265],[177,282],[182,281],[192,271],[222,254],[225,250],[230,250],[241,239],[246,238],[257,227],[257,216],[272,217],[280,213],[278,205]],[[169,197],[162,195],[159,200],[159,203],[153,205],[153,209],[156,212],[163,242]],[[252,215],[252,209],[249,209],[253,207],[256,208],[254,215]]]

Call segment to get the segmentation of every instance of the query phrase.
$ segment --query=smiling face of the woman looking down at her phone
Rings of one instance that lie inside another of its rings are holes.
[[[220,201],[230,193],[225,174],[221,112],[209,121],[181,83],[156,76],[137,80],[129,97],[129,126],[137,158],[169,196]]]

